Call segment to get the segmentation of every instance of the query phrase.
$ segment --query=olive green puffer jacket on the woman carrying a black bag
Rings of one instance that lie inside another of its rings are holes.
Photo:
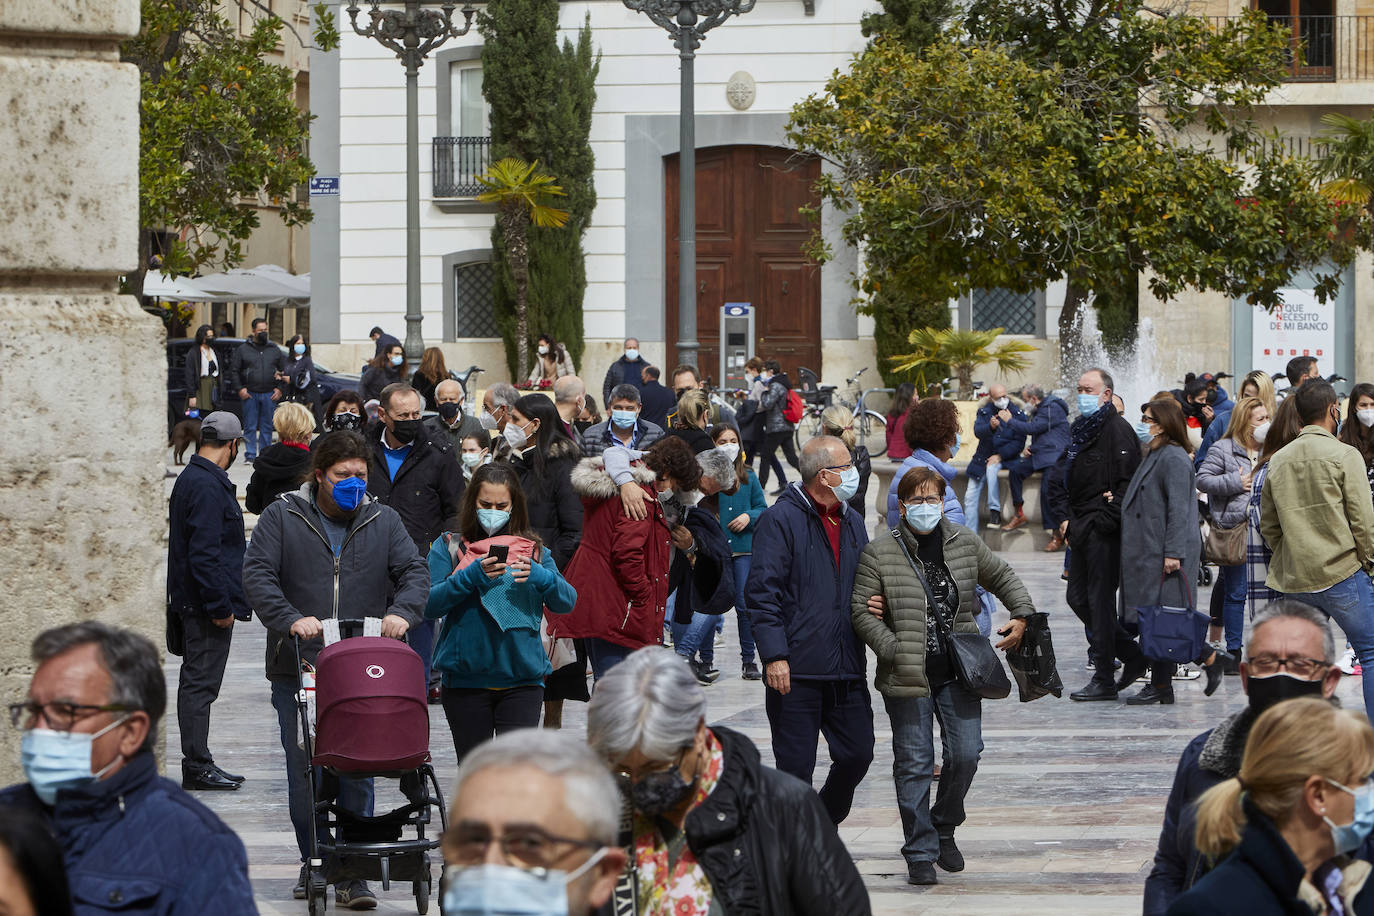
[[[944,536],[944,560],[959,588],[956,633],[977,633],[973,615],[978,597],[974,585],[992,592],[1011,617],[1035,614],[1030,593],[1007,563],[988,549],[982,538],[954,522],[940,522]],[[916,538],[901,525],[907,551],[915,556]],[[868,599],[882,595],[888,610],[882,618],[868,611]],[[926,681],[926,593],[911,563],[890,533],[879,534],[859,556],[851,618],[859,639],[878,655],[874,687],[883,696],[930,696]]]

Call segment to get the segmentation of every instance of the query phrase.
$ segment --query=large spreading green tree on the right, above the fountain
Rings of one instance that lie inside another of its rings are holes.
[[[1091,301],[1212,290],[1272,306],[1318,265],[1338,284],[1367,227],[1316,168],[1261,140],[1253,106],[1287,71],[1261,14],[1219,26],[1143,0],[981,0],[919,54],[879,38],[793,110],[791,140],[835,168],[822,196],[874,282],[954,298],[1066,279],[1065,365]],[[1124,304],[1124,305],[1123,305]]]

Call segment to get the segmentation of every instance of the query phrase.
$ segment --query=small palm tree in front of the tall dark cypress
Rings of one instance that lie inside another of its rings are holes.
[[[477,199],[497,207],[496,227],[515,282],[515,364],[523,379],[529,374],[529,227],[562,228],[569,213],[548,205],[551,198],[563,196],[563,190],[537,162],[500,159],[477,180],[486,188]]]

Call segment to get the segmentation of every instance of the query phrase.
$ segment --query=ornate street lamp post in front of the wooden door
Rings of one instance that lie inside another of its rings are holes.
[[[697,48],[706,32],[756,0],[624,0],[668,30],[682,58],[677,159],[677,363],[697,365]]]

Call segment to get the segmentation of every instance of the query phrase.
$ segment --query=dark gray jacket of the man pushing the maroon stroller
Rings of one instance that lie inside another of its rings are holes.
[[[306,483],[283,493],[258,516],[243,556],[243,592],[268,629],[267,676],[295,680],[291,623],[397,614],[411,626],[425,619],[429,567],[415,552],[401,516],[367,499],[349,522],[339,556],[330,547]],[[301,645],[313,661],[323,644]]]

